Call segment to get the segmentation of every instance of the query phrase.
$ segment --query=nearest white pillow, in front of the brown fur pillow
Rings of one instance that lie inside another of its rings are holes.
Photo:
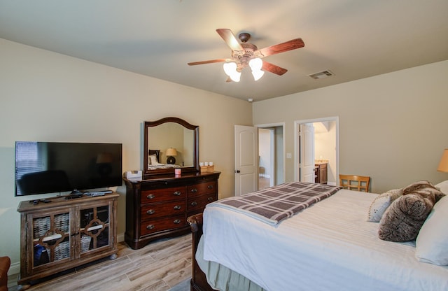
[[[448,265],[447,221],[448,197],[444,197],[434,205],[420,229],[415,241],[417,260],[440,266]]]

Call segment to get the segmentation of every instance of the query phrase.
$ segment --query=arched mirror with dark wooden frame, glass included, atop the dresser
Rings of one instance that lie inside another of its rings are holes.
[[[181,118],[144,122],[144,178],[199,171],[199,126]]]

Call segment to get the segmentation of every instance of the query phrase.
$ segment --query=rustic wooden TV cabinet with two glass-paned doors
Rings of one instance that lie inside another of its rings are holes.
[[[20,289],[103,257],[116,259],[117,200],[112,192],[20,202]]]

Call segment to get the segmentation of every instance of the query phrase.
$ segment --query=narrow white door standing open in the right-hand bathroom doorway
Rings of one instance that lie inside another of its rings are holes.
[[[314,127],[312,123],[301,124],[300,136],[300,181],[314,183]]]

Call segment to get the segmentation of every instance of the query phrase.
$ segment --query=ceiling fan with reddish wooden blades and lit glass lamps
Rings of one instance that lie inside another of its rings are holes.
[[[305,45],[302,38],[295,38],[291,41],[286,41],[285,43],[271,45],[267,48],[258,50],[256,45],[247,42],[251,38],[251,34],[248,34],[247,32],[242,32],[238,35],[240,42],[237,41],[237,38],[230,29],[216,29],[216,32],[218,32],[225,43],[232,49],[232,57],[230,59],[211,59],[209,61],[190,62],[188,65],[195,66],[197,64],[225,62],[224,71],[229,76],[227,80],[228,82],[232,80],[239,82],[241,70],[246,66],[251,67],[253,78],[255,78],[255,80],[260,79],[265,73],[264,71],[269,71],[281,76],[288,70],[269,62],[262,61],[261,59],[263,57],[268,57],[269,55],[279,54],[280,52],[288,52],[289,50],[303,48]]]

